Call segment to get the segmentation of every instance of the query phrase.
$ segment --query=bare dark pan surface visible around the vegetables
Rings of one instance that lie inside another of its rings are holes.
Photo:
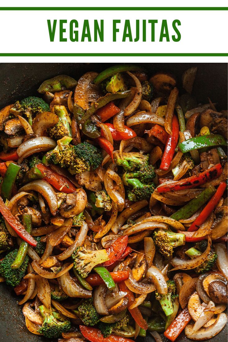
[[[36,90],[46,79],[67,74],[78,79],[87,71],[100,72],[114,63],[2,63],[0,64],[0,108],[26,96],[37,95]],[[217,103],[217,109],[227,109],[227,63],[137,63],[152,75],[165,71],[177,77],[178,85],[184,70],[198,66],[194,94],[198,103],[208,103],[207,97]],[[178,87],[177,85],[177,87]],[[180,87],[179,87],[180,89]],[[0,284],[0,341],[4,342],[52,342],[30,333],[17,305],[18,298],[5,283]],[[162,335],[164,342],[168,342]],[[148,336],[146,341],[153,339]],[[55,342],[56,340],[53,340]],[[138,338],[138,342],[145,339]],[[188,342],[184,333],[176,340]],[[211,342],[227,341],[227,326]]]

